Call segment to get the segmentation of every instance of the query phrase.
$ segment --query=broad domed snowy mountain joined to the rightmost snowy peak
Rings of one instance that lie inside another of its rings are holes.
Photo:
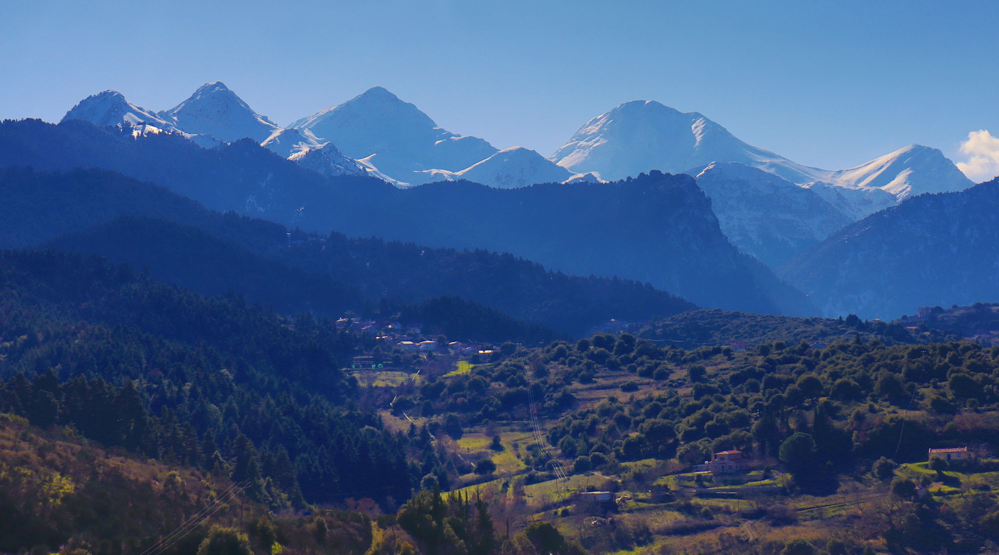
[[[697,112],[631,101],[586,122],[550,160],[617,180],[649,170],[678,173],[717,161],[741,163],[811,189],[854,219],[922,193],[972,185],[936,149],[910,145],[847,170],[820,170],[740,141]]]

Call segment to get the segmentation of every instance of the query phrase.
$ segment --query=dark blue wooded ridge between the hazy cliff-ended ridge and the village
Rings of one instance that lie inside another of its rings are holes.
[[[565,276],[509,255],[316,236],[220,215],[106,171],[7,169],[0,183],[7,207],[0,247],[97,254],[199,292],[239,291],[283,312],[370,313],[383,298],[416,305],[448,295],[578,334],[611,318],[645,320],[693,306],[647,284]],[[519,340],[527,332],[495,338]]]

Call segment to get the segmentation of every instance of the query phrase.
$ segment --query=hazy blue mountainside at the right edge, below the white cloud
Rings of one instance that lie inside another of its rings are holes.
[[[999,181],[923,195],[806,249],[782,275],[828,315],[999,300]]]

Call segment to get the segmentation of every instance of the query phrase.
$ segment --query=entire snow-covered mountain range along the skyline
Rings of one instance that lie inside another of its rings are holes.
[[[206,148],[250,138],[323,175],[367,174],[398,187],[467,180],[510,189],[537,183],[616,181],[650,170],[697,175],[712,164],[725,165],[713,172],[723,180],[724,175],[739,174],[731,166],[737,164],[809,190],[849,220],[908,197],[973,185],[934,148],[909,145],[853,168],[822,170],[748,145],[699,113],[644,100],[625,102],[592,118],[546,158],[523,147],[500,150],[484,139],[442,129],[415,105],[382,87],[287,128],[254,112],[219,81],[199,87],[190,98],[162,112],[105,91],[81,101],[67,119],[104,127],[146,126],[142,134],[154,129],[179,133]],[[738,179],[745,182],[744,177]],[[755,176],[749,181],[759,185],[768,180]],[[753,191],[765,189],[725,188],[727,195],[745,201],[754,198]]]

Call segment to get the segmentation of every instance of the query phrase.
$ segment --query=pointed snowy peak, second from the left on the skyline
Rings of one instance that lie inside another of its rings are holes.
[[[279,129],[221,81],[202,85],[187,100],[159,116],[187,133],[211,135],[230,143],[246,137],[262,143]]]

